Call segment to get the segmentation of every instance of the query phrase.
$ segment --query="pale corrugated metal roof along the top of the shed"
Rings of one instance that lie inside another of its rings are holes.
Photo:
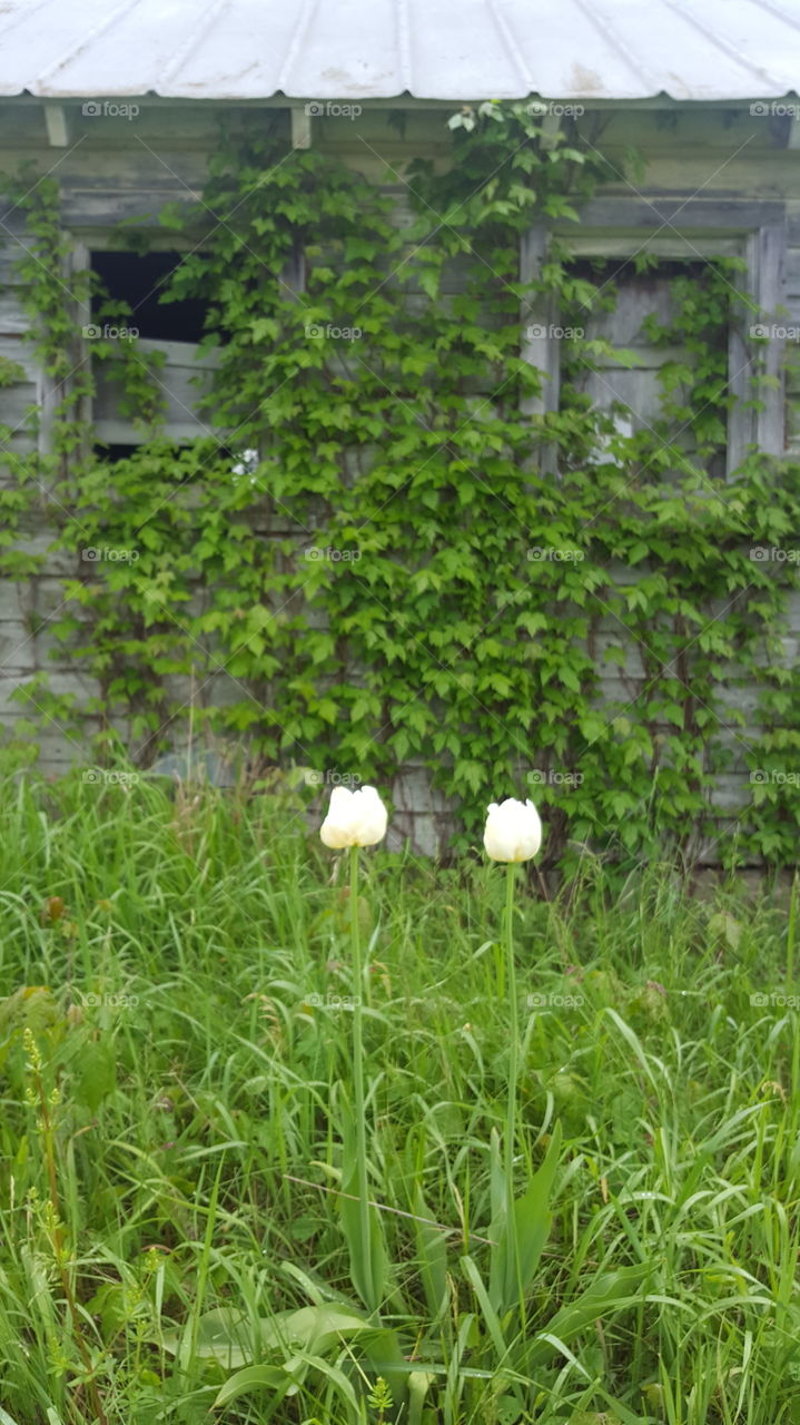
[[[0,94],[777,98],[800,0],[0,0]]]

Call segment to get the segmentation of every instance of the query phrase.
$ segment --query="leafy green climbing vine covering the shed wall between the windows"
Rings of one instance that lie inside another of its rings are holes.
[[[733,483],[710,473],[735,268],[707,264],[675,322],[651,323],[688,353],[662,370],[662,420],[621,435],[569,379],[558,412],[521,413],[541,392],[521,325],[544,301],[579,329],[609,296],[558,239],[520,278],[521,234],[577,219],[605,175],[595,152],[574,125],[545,135],[522,105],[484,104],[457,115],[446,172],[420,161],[377,185],[276,128],[223,144],[202,205],[162,214],[191,249],[165,298],[208,306],[219,440],[164,439],[132,346],[105,355],[147,442],[91,455],[65,380],[50,470],[61,547],[135,554],[68,580],[57,630],[141,760],[191,704],[195,730],[246,734],[275,762],[381,785],[421,764],[456,845],[488,798],[517,794],[548,805],[552,859],[584,844],[625,859],[665,838],[696,851],[727,764],[796,754],[794,566],[750,550],[790,540],[800,472],[753,456]],[[56,271],[57,190],[34,191]],[[67,370],[64,294],[34,282],[30,302]],[[567,341],[567,378],[609,352]],[[730,694],[753,687],[744,720]],[[794,858],[796,801],[754,784],[752,851]]]

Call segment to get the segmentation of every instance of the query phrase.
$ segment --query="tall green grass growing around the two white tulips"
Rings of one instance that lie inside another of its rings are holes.
[[[370,1331],[346,858],[289,801],[75,775],[3,784],[0,859],[0,1425],[800,1422],[794,909],[518,886],[520,1310],[502,869],[362,854]]]

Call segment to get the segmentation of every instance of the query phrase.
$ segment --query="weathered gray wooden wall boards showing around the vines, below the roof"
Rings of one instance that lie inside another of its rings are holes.
[[[75,254],[90,245],[104,245],[108,231],[121,218],[155,215],[168,201],[189,201],[201,192],[206,177],[208,154],[216,144],[218,117],[212,104],[169,104],[138,100],[135,120],[84,117],[80,104],[64,105],[63,124],[54,123],[44,107],[34,100],[20,98],[0,104],[0,170],[14,172],[24,160],[34,160],[44,174],[53,171],[63,194],[63,221],[73,235]],[[347,118],[313,120],[310,141],[332,155],[343,158],[369,178],[386,185],[396,198],[397,221],[409,221],[409,192],[403,165],[411,155],[433,158],[447,164],[450,134],[447,117],[451,105],[410,108],[406,130],[400,135],[387,121],[396,105],[376,105],[357,121]],[[258,130],[262,108],[243,105],[235,121],[243,130]],[[228,118],[231,114],[228,113]],[[594,142],[618,170],[618,180],[604,190],[602,197],[589,204],[579,228],[564,227],[577,256],[606,254],[623,258],[646,242],[659,256],[702,259],[703,255],[744,252],[757,279],[764,302],[790,328],[800,326],[800,165],[797,164],[797,123],[783,118],[753,118],[747,105],[729,108],[689,105],[658,108],[641,107],[626,111],[592,111],[585,124],[591,125]],[[602,130],[602,131],[601,131]],[[296,138],[303,137],[307,124],[299,115]],[[58,135],[65,140],[61,142]],[[48,140],[56,137],[53,145]],[[306,133],[307,137],[307,133]],[[636,144],[645,155],[645,171],[633,182],[622,177],[623,155],[629,144]],[[0,420],[13,428],[7,443],[9,459],[23,457],[34,442],[26,423],[26,410],[33,402],[47,405],[47,380],[24,341],[27,316],[21,302],[14,259],[20,245],[27,242],[20,212],[0,211],[6,247],[0,248],[0,356],[20,363],[24,382],[0,389]],[[167,248],[174,247],[168,237]],[[534,244],[535,248],[535,244]],[[760,264],[760,265],[759,265]],[[453,271],[451,285],[457,289],[461,276]],[[68,274],[65,286],[70,286]],[[421,301],[423,298],[420,298]],[[65,296],[65,301],[68,298]],[[656,294],[656,308],[668,302],[668,294]],[[641,316],[636,301],[623,299],[615,339],[625,345],[639,343],[643,368],[636,376],[615,376],[614,385],[623,399],[646,419],[655,393],[655,375],[663,353],[653,353],[641,339]],[[783,315],[780,315],[783,314]],[[75,305],[75,319],[80,311]],[[625,326],[625,331],[622,331]],[[599,328],[598,328],[599,329]],[[155,343],[164,346],[164,343]],[[783,343],[779,343],[783,345]],[[777,405],[763,419],[757,432],[767,449],[779,442],[781,449],[800,456],[800,362],[794,362],[794,341],[790,338],[781,358],[786,368],[786,390]],[[547,369],[552,353],[535,348],[531,359]],[[161,379],[169,388],[171,412],[168,433],[177,437],[192,435],[189,375],[194,373],[192,352],[185,343],[168,346],[168,366]],[[592,378],[592,392],[604,400],[602,375]],[[625,396],[622,388],[628,390]],[[101,382],[95,410],[100,435],[112,442],[135,439],[130,428],[120,422],[114,392]],[[777,435],[776,435],[777,432]],[[195,432],[196,433],[196,432]],[[770,445],[772,442],[772,445]],[[7,475],[0,467],[0,480]],[[273,533],[276,533],[273,530]],[[57,694],[73,694],[85,705],[100,697],[100,687],[78,671],[70,656],[60,650],[51,633],[51,623],[63,607],[61,579],[80,574],[64,556],[47,553],[50,533],[46,504],[26,530],[24,549],[44,553],[41,569],[31,576],[0,580],[0,722],[7,737],[20,734],[24,708],[13,700],[14,690],[27,685],[40,671],[47,671]],[[797,544],[800,547],[800,530]],[[621,580],[636,577],[618,570]],[[198,597],[201,597],[198,594]],[[601,624],[601,643],[625,648],[623,668],[609,667],[602,674],[602,705],[609,701],[629,701],[643,687],[642,651],[625,636],[615,620]],[[784,640],[786,660],[794,663],[800,644],[800,598],[794,598],[790,627]],[[53,657],[56,654],[56,657]],[[205,697],[219,701],[239,697],[238,688],[223,674],[214,680]],[[717,808],[720,828],[725,817],[735,817],[749,801],[749,777],[744,767],[749,737],[756,731],[752,722],[753,698],[733,687],[722,688],[722,701],[732,708],[744,708],[747,725],[722,725],[719,740],[736,750],[737,765],[720,778]],[[125,728],[121,728],[125,734]],[[43,765],[58,772],[85,758],[85,750],[68,728],[44,720],[40,738]],[[537,765],[535,750],[531,765]],[[446,808],[431,797],[424,772],[410,767],[391,788],[400,815],[396,831],[407,831],[421,851],[431,851],[447,824]],[[565,797],[568,797],[565,791]],[[709,851],[713,861],[715,851]]]

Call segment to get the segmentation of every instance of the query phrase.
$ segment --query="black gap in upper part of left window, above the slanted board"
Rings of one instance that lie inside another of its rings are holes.
[[[125,302],[130,326],[140,336],[162,342],[199,342],[205,335],[206,304],[198,298],[162,302],[169,275],[181,265],[181,252],[93,251],[91,269],[105,288],[105,298],[93,299],[91,315],[101,315],[104,301]]]

